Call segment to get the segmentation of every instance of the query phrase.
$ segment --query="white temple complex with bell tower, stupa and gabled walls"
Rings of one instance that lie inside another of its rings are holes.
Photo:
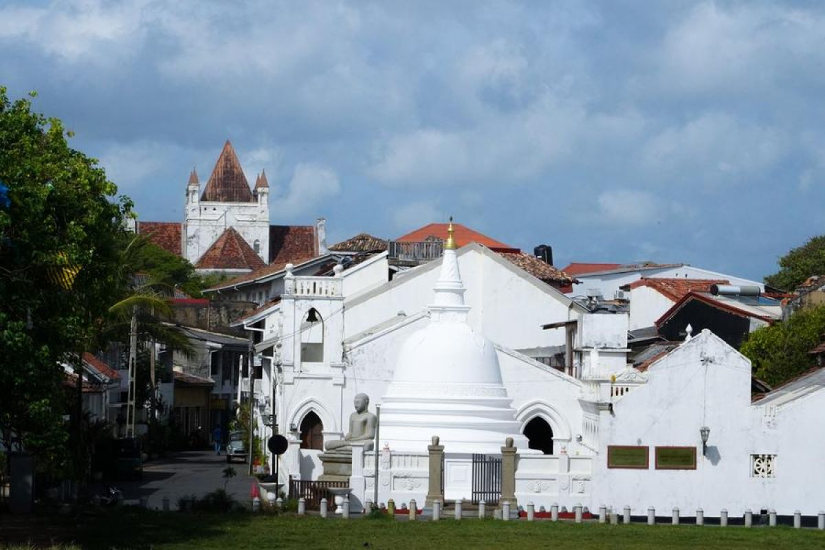
[[[391,280],[386,252],[333,276],[286,266],[281,298],[238,322],[262,364],[259,435],[274,422],[290,440],[281,481],[318,479],[324,442],[342,439],[366,393],[380,434],[353,462],[356,510],[376,487],[381,502],[424,502],[433,435],[448,500],[472,499],[472,455],[512,437],[518,505],[740,518],[825,507],[811,475],[825,449],[822,370],[752,401],[748,360],[702,331],[639,372],[625,314],[588,313],[482,245],[445,249]],[[559,347],[561,369],[526,355]]]

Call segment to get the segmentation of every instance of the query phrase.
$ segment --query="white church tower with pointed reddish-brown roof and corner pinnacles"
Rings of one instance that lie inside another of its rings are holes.
[[[229,140],[203,193],[192,170],[186,186],[183,253],[199,270],[247,272],[269,263],[269,184],[250,190]]]

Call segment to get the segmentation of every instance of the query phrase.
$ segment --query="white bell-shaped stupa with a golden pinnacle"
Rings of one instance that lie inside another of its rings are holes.
[[[527,449],[493,343],[467,324],[450,223],[430,324],[404,342],[381,406],[381,444],[427,452],[433,435],[446,453],[500,453],[507,437]]]

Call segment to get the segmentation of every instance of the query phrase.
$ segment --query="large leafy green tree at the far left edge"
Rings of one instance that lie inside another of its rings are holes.
[[[70,135],[0,87],[0,425],[5,443],[14,434],[55,460],[67,435],[59,361],[91,349],[120,297],[131,209]]]

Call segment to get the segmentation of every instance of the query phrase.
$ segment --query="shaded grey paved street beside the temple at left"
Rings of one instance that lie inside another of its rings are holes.
[[[252,486],[252,477],[247,476],[248,464],[234,461],[232,466],[237,475],[229,480],[226,491],[237,501],[247,501]],[[181,496],[200,497],[224,487],[226,467],[223,453],[215,456],[212,451],[188,451],[144,463],[142,480],[116,482],[115,486],[123,491],[126,501],[146,497],[149,508],[160,509],[163,497],[167,496],[169,505],[175,509]]]

